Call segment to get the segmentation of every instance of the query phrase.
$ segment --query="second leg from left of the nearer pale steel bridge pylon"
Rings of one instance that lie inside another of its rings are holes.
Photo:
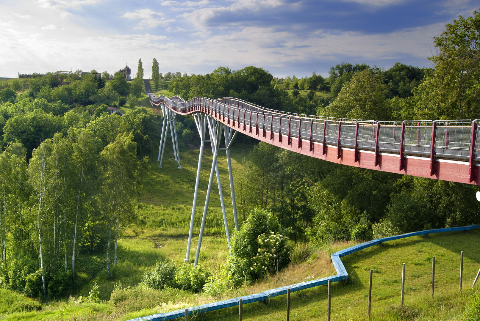
[[[206,219],[207,210],[208,210],[208,201],[210,200],[210,194],[212,193],[213,176],[214,176],[214,172],[217,165],[216,159],[218,156],[218,147],[220,146],[220,138],[221,138],[222,129],[223,129],[223,126],[220,126],[220,124],[211,116],[208,116],[207,123],[208,123],[208,129],[210,132],[210,141],[212,142],[213,161],[212,161],[212,169],[210,170],[210,179],[208,181],[207,195],[205,198],[204,214],[202,216],[202,225],[200,226],[200,235],[198,236],[198,245],[197,245],[197,252],[195,254],[195,263],[193,264],[193,266],[197,266],[198,264],[198,257],[200,255],[200,248],[202,246],[202,237],[204,235],[205,219]]]

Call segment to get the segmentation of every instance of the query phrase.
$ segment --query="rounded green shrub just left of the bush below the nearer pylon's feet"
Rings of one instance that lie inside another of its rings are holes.
[[[178,268],[173,261],[162,261],[158,259],[155,267],[151,271],[144,273],[142,285],[153,289],[163,289],[165,287],[175,287],[175,275]]]

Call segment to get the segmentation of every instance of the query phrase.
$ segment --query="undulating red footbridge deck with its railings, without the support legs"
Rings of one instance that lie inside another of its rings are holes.
[[[477,120],[375,121],[300,115],[237,98],[150,95],[181,115],[205,114],[247,136],[338,164],[480,183]],[[178,149],[177,149],[178,151]],[[180,165],[179,165],[180,166]]]

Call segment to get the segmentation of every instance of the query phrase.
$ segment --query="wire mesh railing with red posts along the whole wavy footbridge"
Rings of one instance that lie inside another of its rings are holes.
[[[246,102],[238,98],[196,97],[185,102],[181,97],[150,98],[165,103],[177,113],[201,111],[226,120],[241,130],[255,128],[290,138],[300,138],[333,146],[374,150],[406,155],[468,160],[480,159],[479,136],[471,120],[374,121],[328,118],[287,113]],[[476,123],[475,123],[476,124]],[[474,128],[474,129],[475,129]],[[255,133],[256,134],[256,133]],[[433,134],[433,139],[432,139]],[[472,145],[473,143],[473,145]],[[299,142],[300,146],[301,142]],[[433,148],[432,148],[433,144]]]

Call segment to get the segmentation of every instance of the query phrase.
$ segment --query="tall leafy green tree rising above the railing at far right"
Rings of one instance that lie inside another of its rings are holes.
[[[432,75],[419,87],[419,119],[478,118],[480,105],[480,13],[459,16],[434,37],[438,56]]]

